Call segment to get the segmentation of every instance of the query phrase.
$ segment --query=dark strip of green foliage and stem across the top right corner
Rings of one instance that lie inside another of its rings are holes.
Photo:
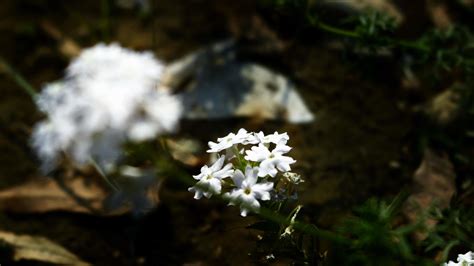
[[[403,40],[394,36],[397,23],[392,17],[367,11],[358,16],[333,22],[346,25],[340,28],[321,21],[319,12],[308,0],[261,0],[262,6],[293,14],[295,21],[309,24],[335,37],[350,39],[348,47],[369,50],[376,55],[380,48],[391,48],[416,59],[421,69],[432,69],[433,74],[443,71],[459,71],[468,79],[474,69],[474,38],[467,26],[453,25],[448,29],[427,31],[415,40]]]

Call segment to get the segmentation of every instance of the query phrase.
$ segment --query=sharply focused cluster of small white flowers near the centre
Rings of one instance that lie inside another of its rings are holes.
[[[207,152],[216,153],[218,159],[193,176],[198,182],[189,191],[194,192],[195,199],[222,194],[229,205],[240,206],[242,216],[258,212],[259,200],[270,200],[279,184],[301,182],[299,176],[290,172],[290,164],[296,161],[285,155],[291,150],[286,145],[288,140],[287,133],[264,135],[240,129],[237,134],[209,142]]]

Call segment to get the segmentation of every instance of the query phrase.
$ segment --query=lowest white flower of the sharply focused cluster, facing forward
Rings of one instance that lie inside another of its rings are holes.
[[[226,193],[226,196],[230,200],[229,205],[240,205],[240,215],[245,217],[249,211],[258,212],[260,210],[258,200],[270,199],[269,191],[272,190],[273,183],[257,183],[258,167],[247,166],[245,176],[242,171],[236,170],[232,180],[237,188]]]

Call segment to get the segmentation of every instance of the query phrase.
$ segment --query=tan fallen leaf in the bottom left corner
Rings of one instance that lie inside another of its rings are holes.
[[[0,241],[13,250],[14,261],[33,260],[63,265],[90,265],[45,237],[0,231]]]

